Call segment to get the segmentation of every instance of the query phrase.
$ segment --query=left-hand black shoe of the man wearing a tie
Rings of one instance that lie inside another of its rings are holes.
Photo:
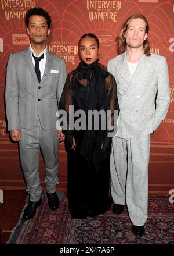
[[[42,204],[42,198],[40,198],[39,201],[36,201],[36,202],[32,202],[29,200],[26,209],[24,209],[24,214],[23,214],[24,221],[28,221],[28,219],[31,219],[32,217],[34,217],[38,206],[41,204]]]

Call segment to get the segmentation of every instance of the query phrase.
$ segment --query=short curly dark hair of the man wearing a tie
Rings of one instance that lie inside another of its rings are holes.
[[[52,22],[51,17],[49,16],[46,10],[42,9],[41,7],[34,7],[28,10],[26,13],[26,26],[29,26],[29,19],[32,15],[43,16],[47,20],[48,29],[50,28],[50,24]]]

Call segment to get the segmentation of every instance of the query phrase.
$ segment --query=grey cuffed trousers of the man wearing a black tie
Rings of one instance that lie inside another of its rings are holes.
[[[57,130],[44,130],[41,123],[37,122],[34,129],[21,129],[21,140],[19,141],[20,162],[26,181],[26,191],[31,201],[38,201],[41,197],[42,188],[39,177],[39,153],[42,152],[45,163],[46,191],[56,191],[59,183],[57,176],[58,141]]]

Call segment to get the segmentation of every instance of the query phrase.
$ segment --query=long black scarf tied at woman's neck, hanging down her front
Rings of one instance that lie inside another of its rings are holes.
[[[86,93],[86,113],[88,110],[107,111],[107,99],[106,99],[106,77],[108,76],[107,70],[100,67],[98,61],[87,65],[81,62],[77,67],[77,73],[79,79],[87,79],[88,90]],[[102,163],[102,142],[106,130],[86,130],[82,138],[81,148],[79,152],[84,155],[88,162],[95,165],[96,171],[99,170],[100,164]]]

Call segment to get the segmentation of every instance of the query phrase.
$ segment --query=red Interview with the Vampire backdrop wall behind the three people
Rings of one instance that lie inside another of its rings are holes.
[[[1,0],[0,1],[0,188],[24,187],[17,145],[9,140],[5,118],[5,72],[9,54],[28,47],[24,16],[41,6],[52,16],[48,37],[50,52],[65,58],[70,72],[78,65],[78,41],[85,33],[99,37],[100,62],[117,55],[115,38],[125,20],[143,13],[150,24],[151,52],[166,57],[171,85],[171,105],[166,118],[151,136],[150,191],[168,193],[174,188],[174,1],[173,0]],[[12,77],[13,79],[13,77]],[[66,190],[66,153],[60,145],[60,188]],[[44,176],[41,162],[41,176]]]

